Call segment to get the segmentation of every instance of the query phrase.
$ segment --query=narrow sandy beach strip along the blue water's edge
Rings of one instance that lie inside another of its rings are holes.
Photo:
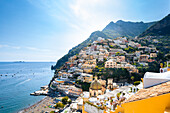
[[[23,108],[21,110],[19,110],[17,113],[25,113],[28,112],[32,109],[34,109],[35,107],[37,107],[38,104],[40,104],[41,102],[43,102],[44,100],[46,100],[47,98],[49,98],[48,96],[44,97],[43,99],[41,99],[40,101],[36,102],[33,105],[30,105],[29,107]]]

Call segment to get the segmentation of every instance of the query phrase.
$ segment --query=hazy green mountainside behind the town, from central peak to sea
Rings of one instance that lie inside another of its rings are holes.
[[[90,46],[89,44],[97,40],[98,37],[102,37],[105,39],[113,39],[113,38],[117,38],[120,36],[126,36],[129,38],[132,38],[142,33],[144,30],[150,27],[153,23],[154,22],[151,22],[151,23],[124,22],[124,21],[118,21],[116,23],[110,22],[103,29],[103,31],[93,32],[87,40],[83,41],[81,44],[69,50],[68,54],[60,58],[57,61],[56,65],[52,67],[52,69],[60,68],[66,61],[68,61],[68,58],[78,54],[80,50],[83,49],[84,47]],[[117,48],[117,47],[114,46],[113,48]]]

